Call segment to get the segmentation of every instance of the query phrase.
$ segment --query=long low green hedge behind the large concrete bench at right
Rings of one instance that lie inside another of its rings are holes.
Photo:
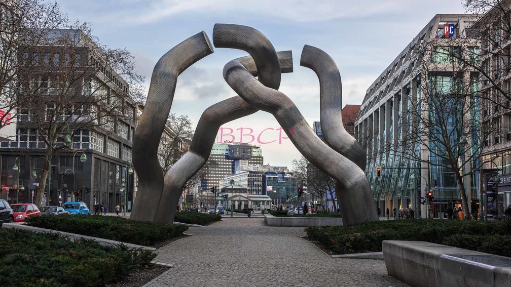
[[[307,236],[335,254],[376,252],[384,240],[426,241],[511,257],[511,219],[504,221],[387,220],[307,227]]]

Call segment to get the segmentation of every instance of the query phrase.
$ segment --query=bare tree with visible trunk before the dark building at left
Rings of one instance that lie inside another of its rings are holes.
[[[56,15],[66,25],[65,16]],[[102,45],[89,23],[65,28],[45,31],[37,44],[18,46],[15,97],[18,121],[26,123],[19,136],[33,137],[29,145],[43,144],[47,159],[37,203],[42,202],[52,156],[80,148],[74,136],[84,130],[123,133],[127,125],[119,119],[135,121],[134,103],[143,97],[143,77],[134,73],[128,51]]]

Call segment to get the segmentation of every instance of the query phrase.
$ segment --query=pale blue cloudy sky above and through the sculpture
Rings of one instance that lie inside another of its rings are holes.
[[[319,83],[314,72],[300,66],[305,44],[327,52],[342,77],[342,103],[361,104],[366,89],[410,43],[435,14],[462,13],[460,0],[61,0],[59,5],[72,20],[91,22],[102,44],[126,48],[135,56],[138,73],[149,86],[156,61],[184,39],[205,31],[213,37],[215,23],[233,23],[261,31],[276,51],[292,50],[294,72],[284,74],[280,91],[290,97],[312,123],[319,121]],[[179,76],[171,112],[188,114],[194,128],[208,106],[233,97],[222,69],[243,51],[215,49]],[[267,128],[260,145],[264,163],[287,165],[300,157],[289,139],[280,140],[273,116],[259,111],[225,124],[234,130]],[[226,129],[228,131],[228,129]],[[248,133],[245,130],[245,133]],[[284,136],[284,133],[283,133]],[[224,137],[230,140],[230,137]],[[220,140],[220,137],[218,137]],[[257,142],[252,142],[259,145]]]

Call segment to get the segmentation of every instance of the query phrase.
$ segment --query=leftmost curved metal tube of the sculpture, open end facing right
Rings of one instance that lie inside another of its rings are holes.
[[[213,53],[204,31],[182,41],[162,56],[153,69],[144,112],[133,137],[133,166],[138,195],[130,219],[154,221],[155,202],[161,197],[164,176],[158,162],[158,145],[170,113],[177,77],[198,60]]]

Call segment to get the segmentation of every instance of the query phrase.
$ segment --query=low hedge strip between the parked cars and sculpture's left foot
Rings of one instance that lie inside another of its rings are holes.
[[[126,243],[151,246],[183,236],[188,226],[134,221],[114,216],[60,215],[33,216],[30,226],[94,236]]]

